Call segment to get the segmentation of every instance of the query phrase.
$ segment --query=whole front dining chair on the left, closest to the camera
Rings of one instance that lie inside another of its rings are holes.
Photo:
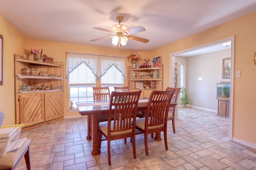
[[[135,126],[136,111],[141,91],[116,92],[112,91],[110,96],[108,122],[99,125],[99,147],[101,147],[102,135],[108,140],[108,164],[110,159],[110,141],[132,137],[133,157],[136,158]],[[111,115],[114,115],[111,120]]]

